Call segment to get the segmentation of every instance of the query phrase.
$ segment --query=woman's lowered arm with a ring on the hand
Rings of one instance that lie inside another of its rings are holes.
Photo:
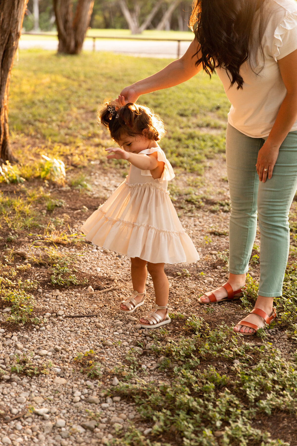
[[[263,182],[272,177],[279,148],[297,119],[297,50],[280,59],[278,65],[287,94],[281,103],[273,128],[259,150],[256,168],[259,180]],[[264,168],[268,170],[264,172]]]

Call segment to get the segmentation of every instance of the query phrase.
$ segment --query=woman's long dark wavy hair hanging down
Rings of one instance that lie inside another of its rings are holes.
[[[259,22],[255,17],[258,8]],[[195,65],[202,63],[210,76],[216,68],[225,68],[231,85],[237,83],[237,89],[242,89],[239,70],[250,59],[251,48],[256,45],[263,56],[263,16],[263,0],[194,0],[190,28],[198,41]]]

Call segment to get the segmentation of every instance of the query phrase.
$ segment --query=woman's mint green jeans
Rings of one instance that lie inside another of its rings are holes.
[[[289,255],[289,209],[297,190],[297,132],[282,143],[272,178],[259,182],[256,162],[263,138],[251,138],[230,124],[226,132],[226,162],[231,198],[229,225],[230,273],[248,272],[260,227],[259,295],[282,295]]]

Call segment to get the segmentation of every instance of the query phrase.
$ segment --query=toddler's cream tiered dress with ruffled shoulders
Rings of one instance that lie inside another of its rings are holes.
[[[175,177],[171,164],[159,147],[140,153],[153,152],[165,163],[161,178],[154,179],[149,170],[131,164],[126,180],[90,215],[81,231],[95,245],[151,263],[195,262],[199,254],[167,190],[168,181]]]

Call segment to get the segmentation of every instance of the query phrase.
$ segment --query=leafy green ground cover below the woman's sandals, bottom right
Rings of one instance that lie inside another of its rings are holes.
[[[211,330],[195,316],[184,322],[182,336],[172,332],[171,338],[167,330],[153,335],[152,350],[166,357],[158,382],[143,379],[147,373],[133,353],[126,357],[128,368],[114,370],[122,378],[110,394],[132,399],[140,416],[137,425],[145,423],[152,431],[145,437],[131,426],[111,444],[289,446],[270,440],[265,426],[256,422],[281,412],[295,417],[296,363],[281,359],[269,344],[243,343],[226,325]]]

